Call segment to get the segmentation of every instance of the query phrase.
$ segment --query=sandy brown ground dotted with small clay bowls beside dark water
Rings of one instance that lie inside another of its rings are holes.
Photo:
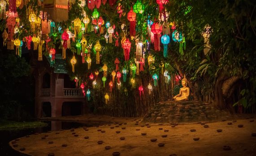
[[[99,119],[100,118],[100,119]],[[256,121],[253,118],[219,121],[214,123],[205,123],[208,128],[198,123],[178,124],[171,127],[170,124],[158,125],[150,123],[151,127],[141,127],[145,123],[140,123],[139,118],[114,118],[108,116],[94,117],[64,117],[56,119],[65,120],[100,120],[118,122],[99,127],[81,127],[74,131],[52,131],[30,137],[19,138],[13,147],[18,150],[26,148],[23,153],[33,156],[48,156],[48,153],[54,153],[55,156],[112,156],[113,152],[120,152],[120,156],[256,156]],[[135,125],[136,121],[138,125]],[[227,123],[232,123],[228,125]],[[127,123],[119,125],[119,123]],[[238,125],[243,124],[242,128]],[[118,126],[118,127],[117,127]],[[114,127],[111,129],[110,127]],[[126,129],[121,129],[126,127]],[[159,130],[159,128],[163,128]],[[85,131],[84,129],[88,129]],[[104,133],[101,131],[105,131]],[[137,129],[137,130],[136,130]],[[139,130],[138,130],[139,129]],[[191,132],[191,129],[196,129]],[[217,132],[222,129],[222,132]],[[164,130],[169,130],[165,132]],[[120,131],[119,134],[116,131]],[[56,134],[59,133],[59,134]],[[78,136],[74,136],[74,133]],[[147,135],[141,135],[147,133]],[[48,135],[46,139],[42,139]],[[161,135],[167,135],[163,138]],[[89,139],[84,139],[89,136]],[[125,137],[125,140],[120,140]],[[199,137],[200,140],[194,141],[193,138]],[[156,142],[151,139],[156,138]],[[103,144],[97,144],[102,140]],[[53,144],[48,144],[53,141]],[[158,147],[159,143],[164,143],[164,147]],[[62,147],[62,144],[67,144]],[[10,145],[13,144],[10,142]],[[111,148],[106,150],[105,147]],[[223,146],[230,146],[231,150],[223,150]]]

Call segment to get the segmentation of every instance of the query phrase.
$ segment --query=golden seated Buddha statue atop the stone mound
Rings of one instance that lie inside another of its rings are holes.
[[[183,87],[180,88],[179,94],[174,96],[174,100],[187,100],[188,99],[190,89],[189,89],[189,87],[187,87],[186,75],[184,75],[184,78],[181,80],[181,84]]]

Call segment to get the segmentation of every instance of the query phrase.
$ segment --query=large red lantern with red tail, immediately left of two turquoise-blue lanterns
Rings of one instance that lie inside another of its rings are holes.
[[[151,32],[154,34],[154,48],[156,51],[160,51],[160,37],[163,30],[163,26],[154,23],[151,27]]]

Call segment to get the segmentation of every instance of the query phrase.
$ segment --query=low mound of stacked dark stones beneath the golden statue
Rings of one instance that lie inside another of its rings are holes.
[[[174,123],[217,121],[229,118],[227,111],[220,111],[208,103],[200,101],[165,101],[159,102],[144,116],[143,122]]]

